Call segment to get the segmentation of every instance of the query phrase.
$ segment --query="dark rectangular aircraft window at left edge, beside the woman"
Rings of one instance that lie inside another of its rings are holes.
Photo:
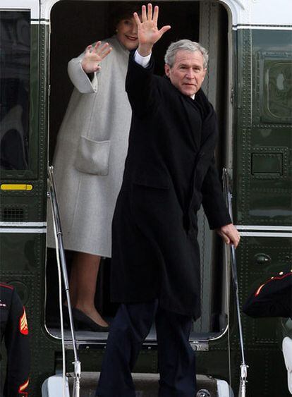
[[[28,169],[30,12],[0,12],[0,169]]]

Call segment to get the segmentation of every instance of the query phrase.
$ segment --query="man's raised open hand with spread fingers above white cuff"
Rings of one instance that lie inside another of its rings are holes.
[[[153,45],[171,28],[169,25],[163,26],[161,29],[157,28],[158,12],[158,6],[154,7],[153,13],[152,4],[147,5],[147,11],[146,6],[142,6],[142,22],[138,13],[134,13],[138,26],[138,52],[142,56],[150,54]]]

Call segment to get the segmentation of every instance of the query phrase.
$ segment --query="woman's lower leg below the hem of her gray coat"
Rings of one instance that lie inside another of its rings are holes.
[[[97,324],[108,326],[95,308],[99,264],[99,256],[75,252],[69,282],[71,305],[81,310]]]

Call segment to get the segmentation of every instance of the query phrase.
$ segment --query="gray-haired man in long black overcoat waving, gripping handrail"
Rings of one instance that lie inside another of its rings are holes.
[[[181,40],[166,51],[164,78],[153,74],[158,7],[142,6],[139,47],[130,55],[126,91],[133,109],[128,156],[113,219],[111,324],[98,397],[134,397],[131,371],[152,322],[157,330],[159,397],[195,396],[192,319],[200,317],[197,210],[235,246],[214,166],[217,121],[200,90],[207,51]]]

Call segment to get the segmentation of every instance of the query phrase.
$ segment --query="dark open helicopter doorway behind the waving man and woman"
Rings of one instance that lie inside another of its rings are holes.
[[[67,63],[81,54],[85,47],[97,39],[110,37],[109,14],[114,2],[63,0],[51,11],[50,54],[50,106],[49,106],[49,164],[54,157],[54,148],[59,127],[73,90],[67,75]],[[142,3],[141,3],[142,4]],[[159,5],[161,25],[171,25],[171,30],[162,37],[154,49],[156,73],[164,73],[164,53],[170,42],[182,38],[200,42],[209,50],[209,72],[203,89],[217,110],[219,120],[219,142],[217,165],[226,165],[230,139],[229,130],[229,45],[228,16],[223,6],[213,1],[164,1]],[[58,194],[58,192],[57,192]],[[48,207],[49,209],[49,207]],[[227,325],[226,288],[227,274],[224,268],[224,252],[221,241],[209,231],[207,219],[200,210],[199,237],[201,252],[201,300],[202,316],[193,324],[191,339],[207,341],[224,332]],[[70,274],[73,252],[66,252]],[[97,280],[96,305],[101,314],[111,319],[116,305],[109,298],[110,259],[103,259]],[[60,336],[58,326],[56,255],[47,250],[47,299],[46,327],[52,336]],[[83,341],[106,341],[107,333],[83,331],[78,338]],[[69,335],[69,332],[68,332]],[[155,330],[147,338],[156,343]]]

